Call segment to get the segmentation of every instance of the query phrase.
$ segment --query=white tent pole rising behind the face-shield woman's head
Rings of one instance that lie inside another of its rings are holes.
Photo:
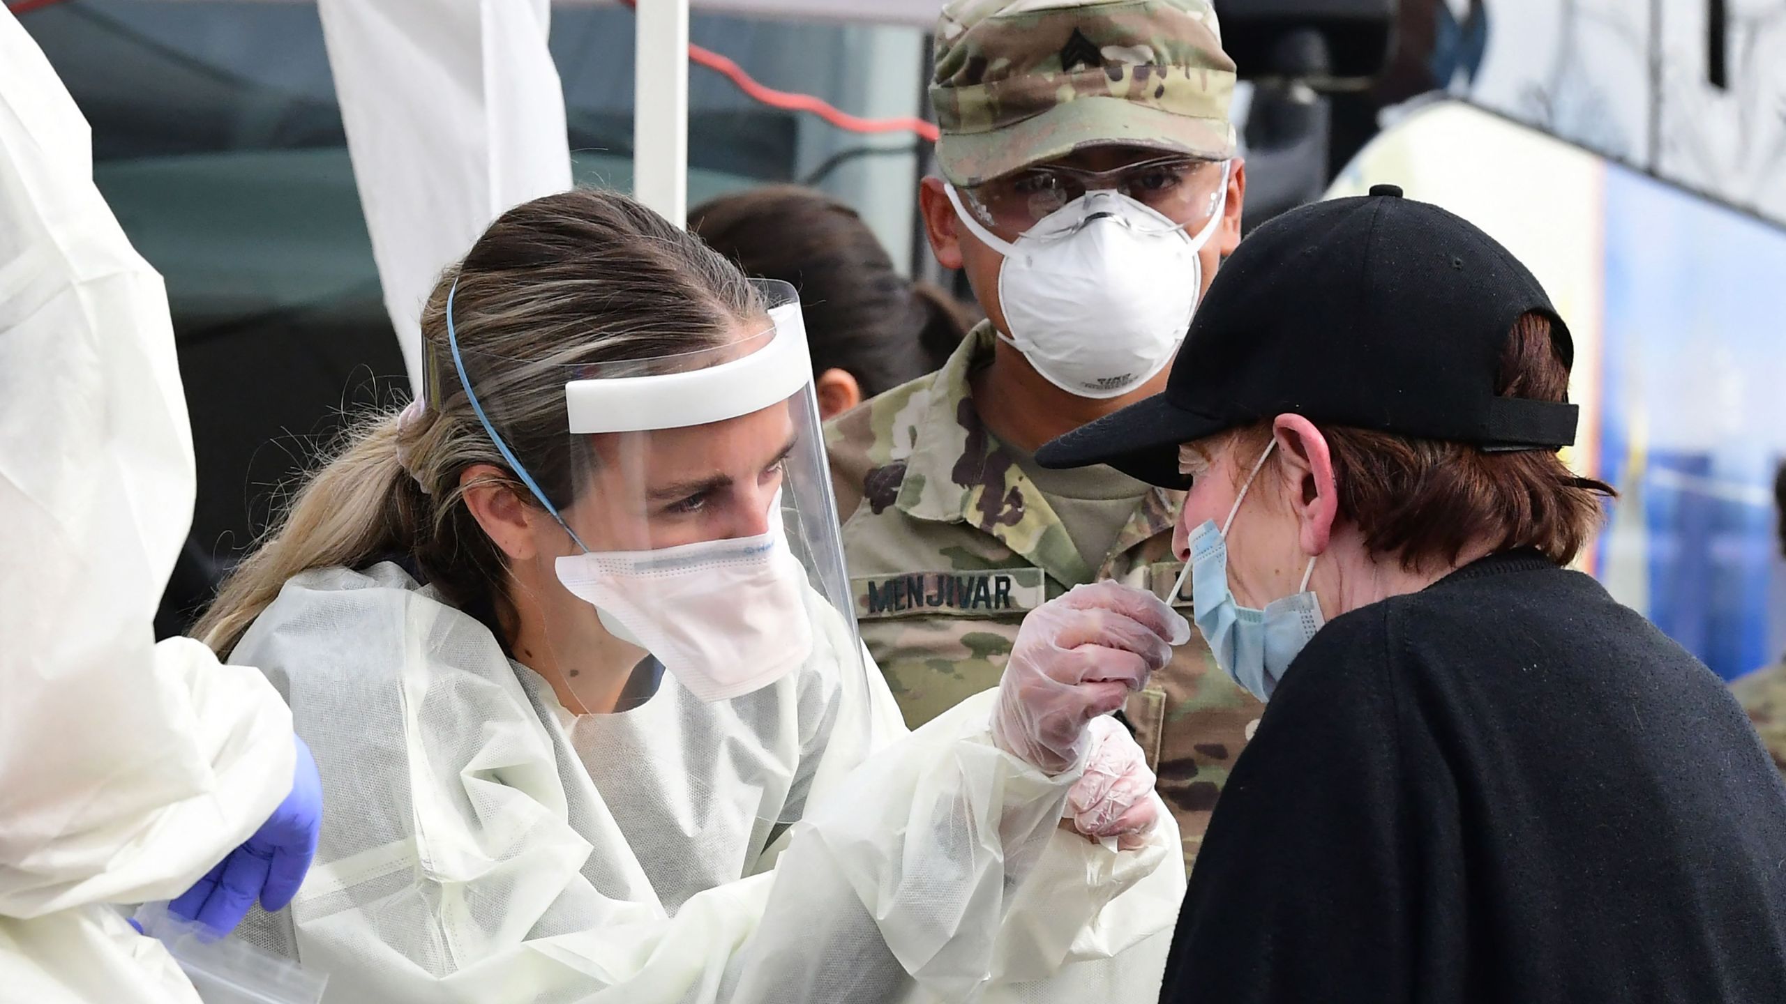
[[[634,23],[632,197],[688,218],[688,0],[639,0]]]

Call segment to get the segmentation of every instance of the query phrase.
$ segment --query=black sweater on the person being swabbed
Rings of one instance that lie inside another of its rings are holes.
[[[1786,1002],[1786,786],[1598,582],[1488,557],[1286,670],[1161,1000]]]

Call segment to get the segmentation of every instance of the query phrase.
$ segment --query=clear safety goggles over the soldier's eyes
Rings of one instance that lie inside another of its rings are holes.
[[[1038,239],[1064,236],[1032,229],[1088,191],[1122,193],[1170,220],[1175,229],[1197,232],[1222,209],[1229,166],[1231,161],[1184,155],[1156,157],[1109,172],[1038,164],[956,191],[981,225],[1006,239],[1025,234]]]

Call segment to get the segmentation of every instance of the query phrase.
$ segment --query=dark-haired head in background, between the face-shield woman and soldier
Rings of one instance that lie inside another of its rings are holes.
[[[936,350],[947,359],[966,334],[947,293],[913,286],[868,223],[820,191],[759,188],[714,198],[688,218],[745,273],[800,291],[825,418],[934,370]]]

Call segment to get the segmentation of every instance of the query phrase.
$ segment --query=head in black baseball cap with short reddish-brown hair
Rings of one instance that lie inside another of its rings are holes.
[[[1186,488],[1175,547],[1211,527],[1239,606],[1327,616],[1350,577],[1434,577],[1484,554],[1572,561],[1611,489],[1575,438],[1573,345],[1506,248],[1382,186],[1256,230],[1211,286],[1163,395],[1045,447]],[[1363,595],[1368,590],[1352,595]]]

